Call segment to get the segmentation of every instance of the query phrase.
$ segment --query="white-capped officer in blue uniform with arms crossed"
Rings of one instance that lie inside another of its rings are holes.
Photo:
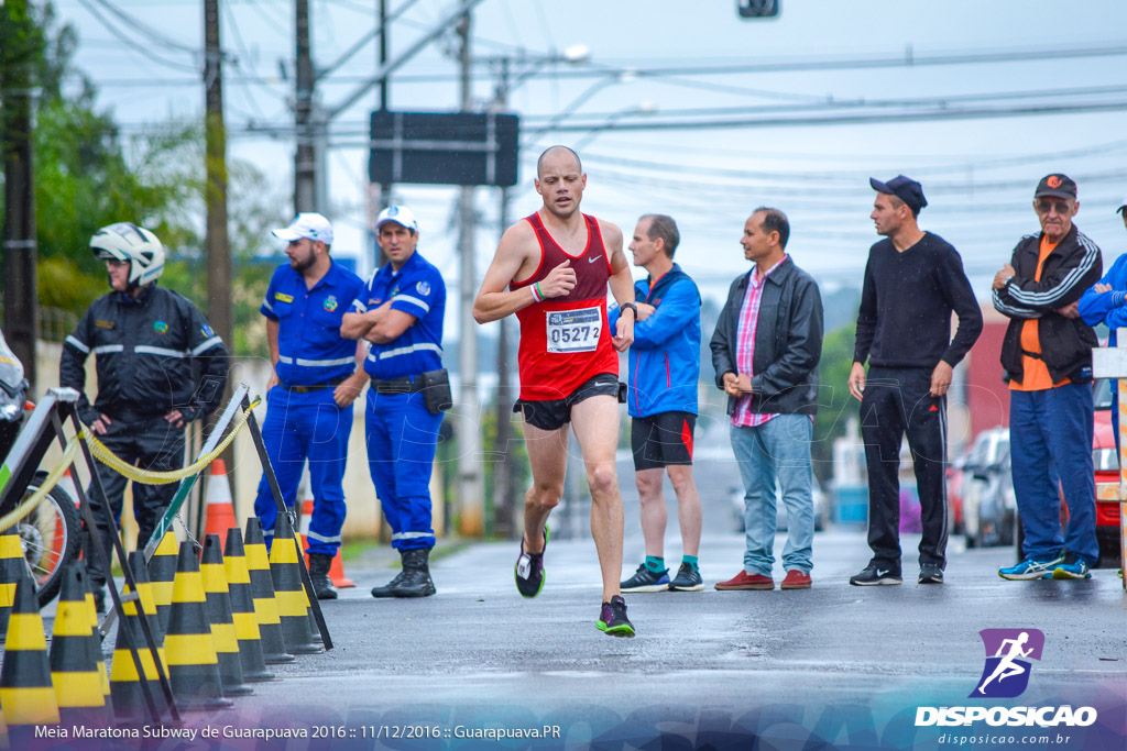
[[[372,377],[365,427],[367,464],[391,546],[403,567],[372,597],[434,594],[428,558],[431,466],[442,411],[450,408],[450,381],[442,367],[442,319],[446,285],[416,252],[418,222],[410,209],[389,206],[376,220],[376,238],[388,262],[345,314],[340,333],[366,339],[372,348],[364,369]]]

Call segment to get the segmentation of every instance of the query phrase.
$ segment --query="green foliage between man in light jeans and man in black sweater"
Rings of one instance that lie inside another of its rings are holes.
[[[814,419],[810,447],[814,472],[825,485],[833,474],[834,439],[845,433],[850,415],[859,414],[860,402],[849,393],[849,372],[853,367],[854,325],[851,323],[827,333],[822,340],[818,364],[818,414]]]

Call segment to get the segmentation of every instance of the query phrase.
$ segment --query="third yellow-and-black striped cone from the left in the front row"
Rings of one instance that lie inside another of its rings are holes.
[[[149,581],[149,572],[144,567],[144,554],[140,551],[130,553],[130,570],[133,579],[137,583],[137,599],[123,602],[125,618],[117,622],[117,642],[114,645],[114,664],[109,669],[109,694],[113,697],[114,717],[121,722],[144,723],[149,716],[149,705],[144,699],[141,689],[141,673],[137,672],[136,663],[133,662],[133,653],[125,641],[125,632],[133,637],[137,655],[141,658],[141,669],[144,672],[144,680],[152,694],[153,703],[157,706],[157,714],[163,716],[168,712],[168,701],[165,699],[165,691],[160,687],[160,677],[157,674],[157,662],[144,640],[144,632],[141,629],[141,618],[149,622],[149,629],[157,641],[157,660],[168,676],[168,660],[165,659],[165,650],[161,646],[165,641],[165,632],[160,627],[160,618],[157,616],[157,602],[153,596],[153,585]],[[132,590],[126,584],[123,597]],[[137,602],[141,609],[137,610]],[[94,598],[90,598],[94,605]]]

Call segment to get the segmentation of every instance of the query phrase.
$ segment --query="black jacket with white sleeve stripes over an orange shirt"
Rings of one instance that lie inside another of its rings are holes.
[[[1084,290],[1100,280],[1103,259],[1100,248],[1073,225],[1053,252],[1045,259],[1041,280],[1035,281],[1040,257],[1041,234],[1030,234],[1013,249],[1010,265],[1014,276],[992,297],[994,307],[1010,318],[1002,340],[1002,367],[1006,378],[1021,381],[1021,329],[1026,321],[1040,319],[1040,359],[1048,367],[1053,382],[1065,377],[1074,382],[1092,377],[1092,347],[1099,342],[1092,327],[1080,318],[1071,319],[1057,311],[1080,299]]]

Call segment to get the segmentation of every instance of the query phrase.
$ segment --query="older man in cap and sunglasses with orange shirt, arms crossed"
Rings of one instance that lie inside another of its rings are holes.
[[[1099,560],[1092,468],[1092,348],[1079,301],[1100,278],[1100,249],[1076,229],[1076,184],[1047,175],[1033,193],[1039,234],[1021,239],[994,276],[994,307],[1009,316],[1002,366],[1010,379],[1010,458],[1026,533],[1024,560],[1003,579],[1088,579]],[[1115,295],[1115,293],[1109,293]],[[1061,475],[1068,504],[1061,528]]]

